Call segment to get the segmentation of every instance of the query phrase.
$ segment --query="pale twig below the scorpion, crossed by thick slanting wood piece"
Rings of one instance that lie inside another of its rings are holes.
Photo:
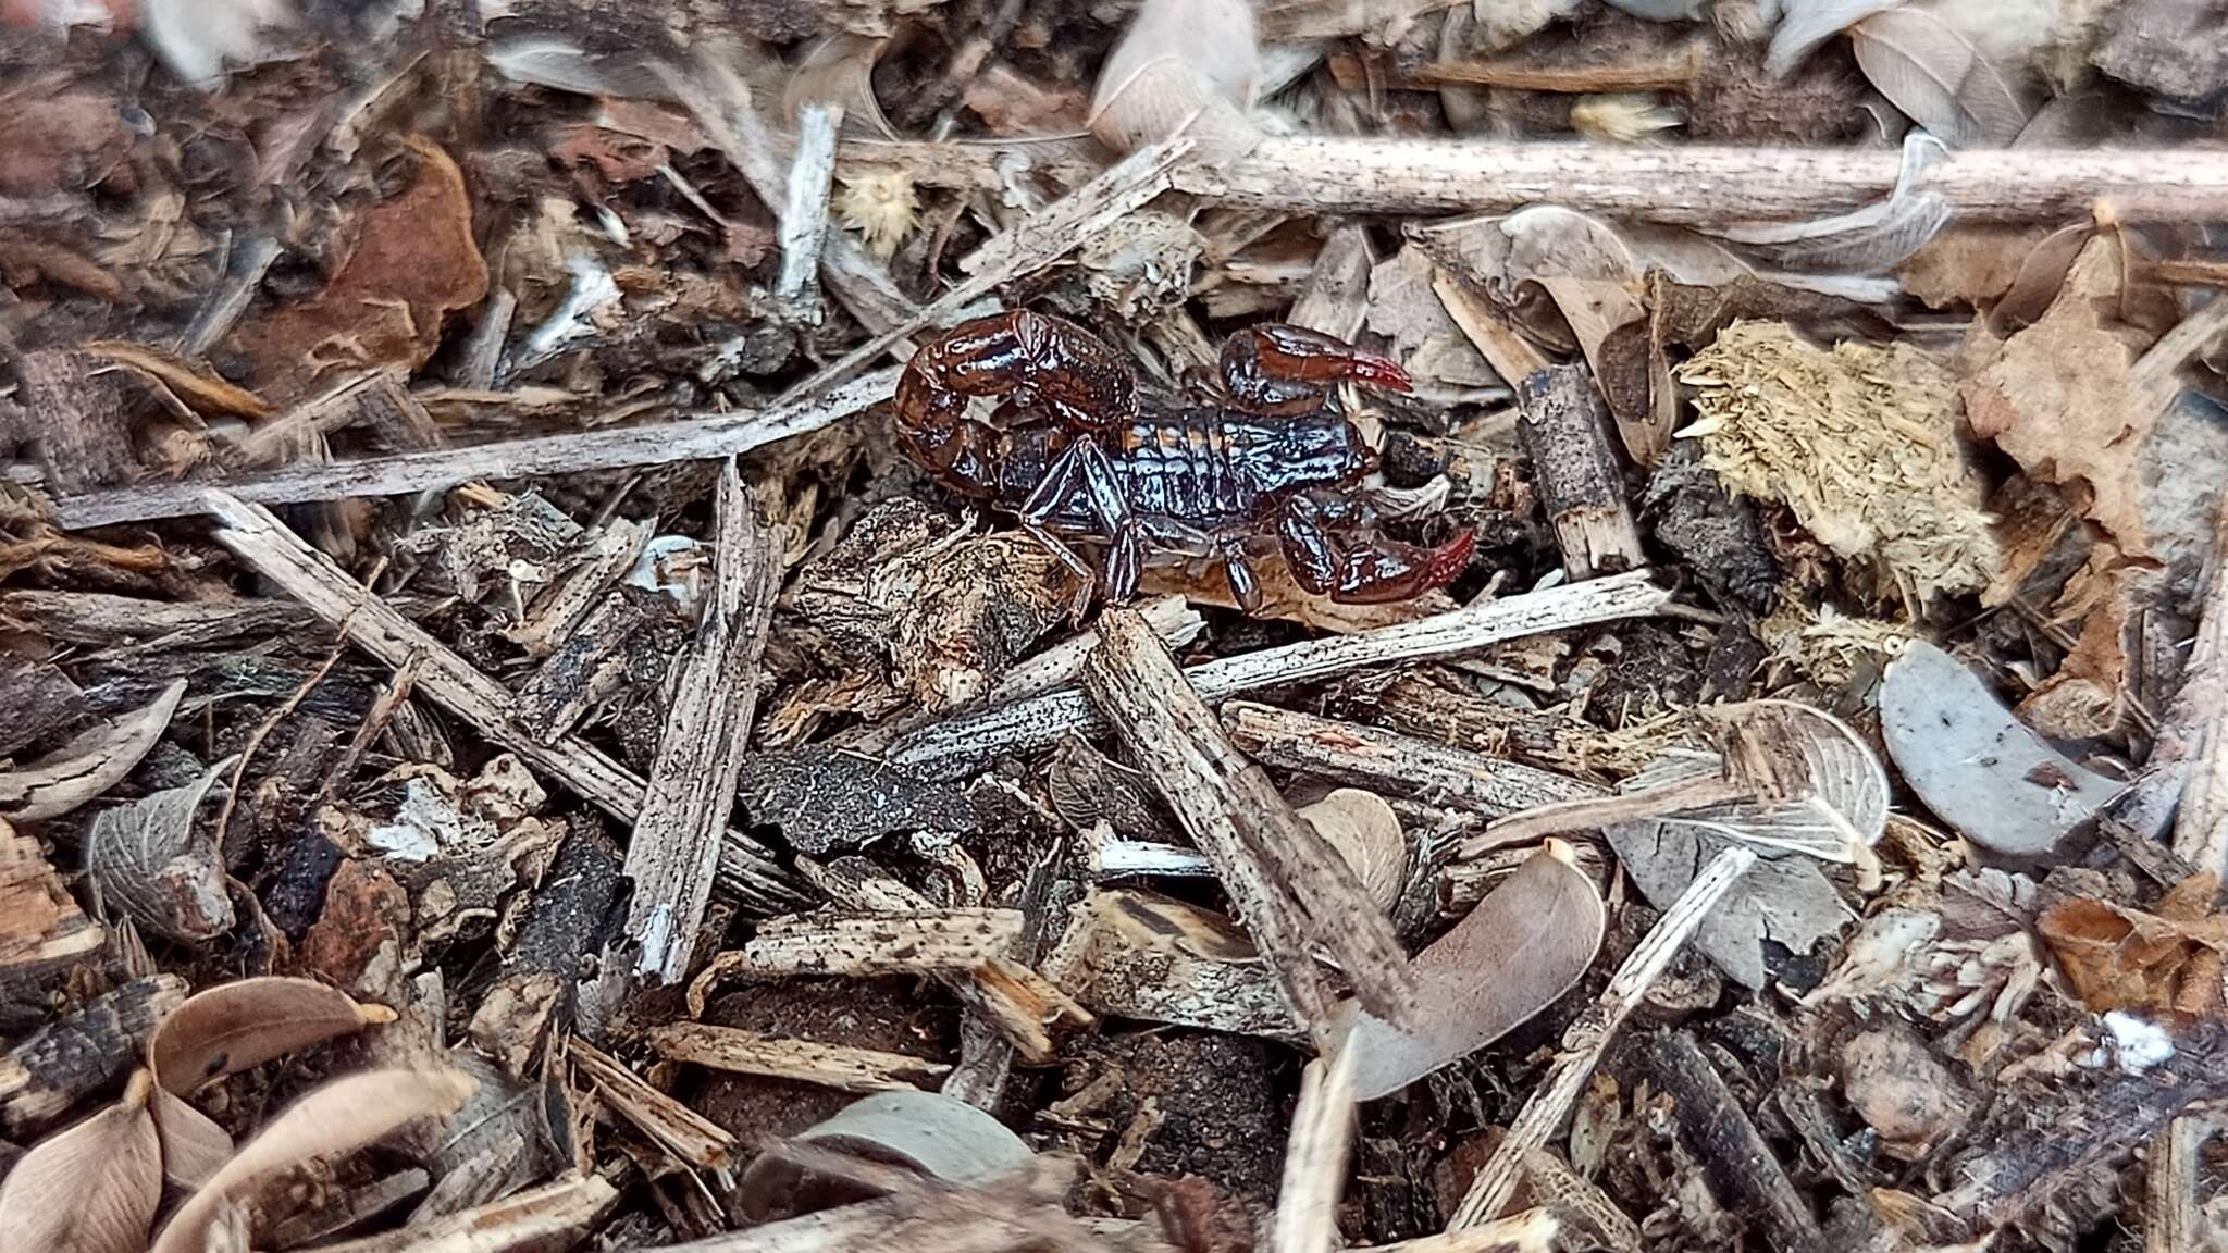
[[[1241,653],[1183,671],[1208,705],[1283,682],[1312,682],[1366,667],[1448,658],[1502,640],[1644,618],[1671,604],[1646,571],[1589,580],[1573,586],[1511,595],[1488,604],[1437,613],[1399,626],[1357,631],[1335,640],[1306,640],[1281,649]],[[1007,751],[1040,749],[1072,734],[1103,734],[1101,720],[1081,691],[1054,691],[983,713],[922,727],[891,747],[889,758],[938,774],[967,769]]]

